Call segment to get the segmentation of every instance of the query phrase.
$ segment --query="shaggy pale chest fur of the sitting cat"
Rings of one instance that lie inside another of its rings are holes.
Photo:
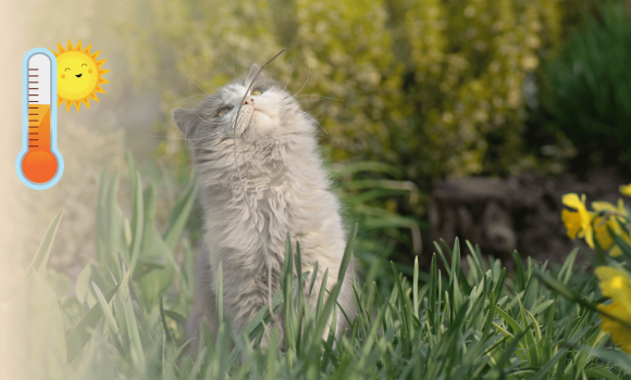
[[[235,262],[258,271],[271,264],[279,271],[287,233],[300,240],[307,254],[312,246],[336,245],[332,243],[343,239],[343,235],[335,239],[343,232],[338,218],[338,233],[327,231],[333,227],[331,216],[337,215],[337,201],[327,191],[330,183],[320,165],[313,166],[317,162],[308,157],[286,162],[269,154],[279,150],[252,153],[250,163],[240,165],[240,178],[234,163],[218,168],[214,183],[200,189],[213,266],[219,261]],[[316,241],[325,235],[330,242]]]

